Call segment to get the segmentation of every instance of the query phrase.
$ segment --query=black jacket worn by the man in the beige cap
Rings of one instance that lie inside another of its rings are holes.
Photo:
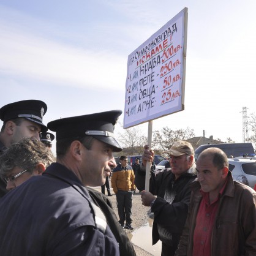
[[[156,201],[151,208],[152,213],[154,213],[152,244],[156,244],[160,238],[157,225],[161,225],[169,230],[172,235],[172,241],[169,241],[169,244],[174,248],[178,246],[187,218],[191,194],[189,184],[195,181],[196,178],[195,165],[177,180],[175,180],[170,168],[158,173],[156,177],[154,175],[151,176],[149,191],[157,195]],[[172,203],[164,200],[167,188],[171,196],[174,197]]]

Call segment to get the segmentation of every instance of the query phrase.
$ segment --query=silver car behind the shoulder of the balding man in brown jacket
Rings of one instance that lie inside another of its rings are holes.
[[[254,188],[256,184],[256,160],[229,158],[228,169],[232,172],[234,181]]]

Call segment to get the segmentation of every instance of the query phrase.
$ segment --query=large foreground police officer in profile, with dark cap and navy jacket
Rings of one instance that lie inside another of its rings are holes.
[[[0,201],[1,255],[119,255],[105,216],[86,186],[101,186],[122,150],[113,135],[121,110],[62,118],[56,163]]]

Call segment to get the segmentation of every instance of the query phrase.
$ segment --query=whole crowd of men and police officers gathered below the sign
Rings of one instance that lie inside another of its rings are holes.
[[[170,167],[152,173],[145,191],[154,151],[145,145],[132,167],[126,156],[118,164],[113,157],[122,150],[113,134],[121,110],[45,126],[46,111],[40,100],[0,108],[0,255],[136,255],[125,228],[133,229],[137,176],[162,256],[256,255],[256,192],[233,181],[222,150],[205,149],[195,163],[192,145],[176,141],[165,152]],[[91,188],[111,172],[119,220],[108,197]]]

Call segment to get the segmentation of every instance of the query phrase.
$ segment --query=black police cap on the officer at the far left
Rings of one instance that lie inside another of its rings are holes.
[[[41,100],[21,100],[0,108],[0,119],[5,122],[16,118],[25,118],[36,122],[41,126],[42,132],[48,130],[43,124],[43,115],[47,111],[47,105]]]

